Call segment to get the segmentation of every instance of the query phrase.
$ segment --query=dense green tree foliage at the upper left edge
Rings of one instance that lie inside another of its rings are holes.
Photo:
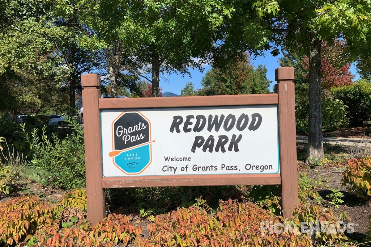
[[[50,110],[65,76],[54,44],[63,31],[53,26],[51,4],[1,0],[0,16],[2,110],[15,114]]]

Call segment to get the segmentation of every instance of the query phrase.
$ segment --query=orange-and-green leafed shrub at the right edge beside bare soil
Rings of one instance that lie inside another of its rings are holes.
[[[358,198],[371,200],[371,157],[348,160],[348,168],[341,181],[348,191],[354,191]]]

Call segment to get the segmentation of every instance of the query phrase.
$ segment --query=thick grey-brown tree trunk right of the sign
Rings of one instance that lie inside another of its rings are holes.
[[[312,39],[309,52],[309,126],[307,163],[324,158],[321,109],[321,41]]]

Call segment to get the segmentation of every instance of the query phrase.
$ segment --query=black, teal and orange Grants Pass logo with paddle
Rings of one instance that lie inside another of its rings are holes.
[[[152,161],[151,123],[138,111],[125,111],[112,122],[109,156],[125,174],[139,174]]]

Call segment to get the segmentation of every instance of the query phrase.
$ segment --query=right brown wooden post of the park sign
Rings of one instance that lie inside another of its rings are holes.
[[[282,215],[291,217],[298,206],[298,164],[296,160],[295,86],[293,67],[275,70],[278,93],[278,135],[282,187]]]

